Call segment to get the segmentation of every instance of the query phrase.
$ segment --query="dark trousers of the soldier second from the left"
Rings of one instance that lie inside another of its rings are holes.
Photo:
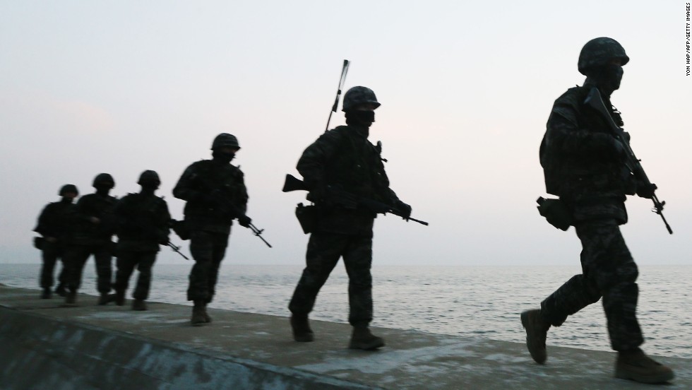
[[[82,284],[84,265],[89,256],[94,255],[96,263],[97,290],[101,294],[107,294],[111,290],[111,278],[113,270],[112,243],[93,245],[71,245],[65,254],[65,262],[68,267],[68,288],[77,291]]]

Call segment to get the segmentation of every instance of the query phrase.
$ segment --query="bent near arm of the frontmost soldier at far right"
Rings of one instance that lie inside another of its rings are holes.
[[[580,128],[577,112],[567,105],[555,105],[548,118],[546,146],[568,155],[612,153],[615,139],[609,134]]]

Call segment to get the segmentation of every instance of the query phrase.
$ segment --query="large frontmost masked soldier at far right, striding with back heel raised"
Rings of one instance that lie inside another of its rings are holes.
[[[610,95],[619,88],[622,66],[628,61],[615,40],[590,40],[578,60],[584,85],[570,88],[555,101],[540,161],[547,192],[559,196],[582,243],[583,273],[549,295],[540,309],[523,312],[521,322],[532,358],[543,364],[550,326],[560,326],[602,297],[611,345],[618,351],[615,376],[658,383],[674,375],[639,348],[643,336],[636,317],[638,269],[619,229],[627,222],[625,195],[651,198],[656,187],[633,180],[624,166],[624,145],[612,136],[605,119],[585,105],[587,94],[597,88],[612,119],[623,125]]]

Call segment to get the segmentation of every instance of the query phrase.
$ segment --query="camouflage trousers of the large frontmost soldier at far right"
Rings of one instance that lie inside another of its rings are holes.
[[[615,220],[580,223],[583,273],[573,276],[541,302],[544,319],[560,326],[567,316],[603,297],[610,343],[614,350],[631,350],[643,343],[636,309],[638,269]]]

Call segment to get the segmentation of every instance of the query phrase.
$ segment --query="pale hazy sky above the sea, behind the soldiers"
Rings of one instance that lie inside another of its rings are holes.
[[[621,230],[640,265],[690,264],[692,76],[684,1],[8,1],[0,0],[0,263],[38,263],[36,219],[58,189],[114,196],[186,166],[234,134],[248,215],[273,248],[234,225],[226,264],[304,264],[287,173],[325,130],[345,89],[381,102],[391,187],[429,226],[380,215],[374,265],[573,265],[580,243],[536,211],[538,148],[552,103],[583,83],[581,47],[618,40],[631,58],[612,102],[674,235],[629,198]],[[344,123],[333,114],[330,127]],[[174,237],[174,235],[172,236]],[[177,237],[189,253],[189,242]],[[162,249],[159,263],[185,262]]]

